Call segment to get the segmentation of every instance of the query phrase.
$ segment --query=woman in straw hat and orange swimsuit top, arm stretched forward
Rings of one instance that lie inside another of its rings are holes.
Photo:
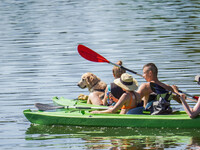
[[[137,81],[128,73],[123,73],[114,83],[121,87],[125,93],[119,98],[114,107],[105,111],[93,111],[92,113],[115,113],[121,109],[120,114],[126,114],[141,103],[140,95],[135,91],[138,88]]]

